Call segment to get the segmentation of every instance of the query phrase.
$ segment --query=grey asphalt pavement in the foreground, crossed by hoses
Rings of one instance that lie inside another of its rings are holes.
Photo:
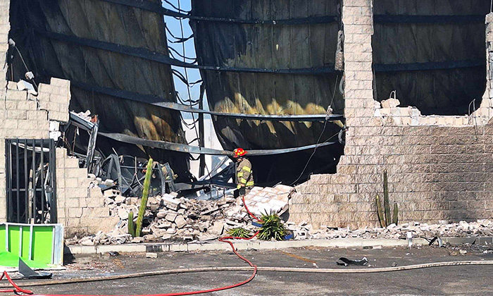
[[[467,251],[461,255],[459,249]],[[407,249],[327,249],[306,247],[242,251],[258,266],[304,268],[362,268],[458,260],[493,260],[489,247],[420,247]],[[339,257],[368,258],[368,266],[337,266]],[[232,252],[168,252],[158,258],[145,254],[76,257],[55,278],[80,278],[139,271],[201,266],[246,266]],[[185,292],[231,285],[249,278],[249,271],[187,273],[125,280],[30,287],[36,294],[149,295]],[[210,295],[493,295],[493,266],[449,266],[387,273],[285,273],[259,271],[242,287]],[[22,281],[18,282],[22,285]]]

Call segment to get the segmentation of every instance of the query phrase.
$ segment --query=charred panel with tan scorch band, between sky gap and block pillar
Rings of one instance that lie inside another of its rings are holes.
[[[340,27],[338,4],[338,0],[192,1],[193,16],[231,19],[192,23],[199,64],[251,69],[249,73],[202,70],[210,109],[252,114],[320,114],[332,105],[334,113],[342,114],[344,101],[338,91],[341,75],[334,70]],[[252,73],[262,69],[285,71]],[[315,144],[324,123],[216,117],[214,125],[225,149],[279,149]],[[338,130],[337,125],[327,123],[320,139],[326,140]],[[331,147],[318,154],[323,155],[322,163],[312,162],[327,170],[327,161],[340,154],[340,146]],[[298,160],[304,165],[306,159],[301,156]],[[274,162],[268,160],[269,164]]]

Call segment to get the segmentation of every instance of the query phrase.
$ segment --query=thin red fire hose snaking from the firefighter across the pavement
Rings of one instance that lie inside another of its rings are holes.
[[[254,218],[256,221],[262,222],[254,214],[251,214],[251,212],[248,209],[248,206],[246,206],[246,204],[245,204],[244,197],[243,197],[243,204],[245,206],[246,211],[248,212],[248,214],[252,218]],[[219,241],[220,242],[227,242],[228,244],[230,244],[233,253],[235,253],[237,255],[237,257],[239,257],[239,259],[242,259],[247,264],[249,264],[249,266],[251,266],[251,267],[254,268],[254,273],[252,273],[251,276],[248,279],[246,279],[246,280],[244,280],[244,281],[242,281],[240,283],[235,283],[233,285],[227,285],[225,287],[213,288],[213,289],[209,289],[209,290],[199,290],[199,291],[192,291],[192,292],[178,292],[178,293],[168,293],[168,294],[133,295],[133,296],[180,296],[180,295],[196,295],[196,294],[209,293],[209,292],[217,292],[217,291],[222,291],[222,290],[237,288],[240,285],[244,285],[246,283],[249,283],[256,276],[257,266],[254,265],[254,264],[252,264],[251,261],[249,261],[249,259],[246,259],[242,255],[240,255],[237,252],[237,250],[235,248],[235,245],[233,245],[233,243],[230,240],[251,240],[252,238],[255,238],[256,235],[258,235],[258,231],[256,233],[254,233],[254,235],[252,235],[250,238],[238,238],[238,237],[232,237],[232,236],[226,236],[224,238],[219,238]],[[18,285],[15,285],[15,283],[13,282],[13,280],[11,279],[11,277],[8,276],[8,274],[7,274],[6,271],[4,271],[4,274],[0,277],[0,280],[2,278],[4,278],[4,276],[6,276],[6,278],[8,280],[8,283],[11,283],[11,285],[13,285],[13,289],[10,289],[10,290],[0,290],[0,292],[13,292],[15,294],[23,293],[23,294],[30,294],[30,295],[33,294],[32,291],[30,291],[30,290],[24,290],[23,288],[20,288]],[[68,296],[68,295],[46,294],[46,295],[33,295],[33,296]],[[70,295],[70,296],[96,296],[96,295]]]

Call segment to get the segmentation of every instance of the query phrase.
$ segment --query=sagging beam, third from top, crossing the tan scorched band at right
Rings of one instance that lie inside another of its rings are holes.
[[[196,109],[191,106],[177,104],[170,101],[165,101],[161,97],[156,97],[150,94],[137,94],[135,92],[127,92],[125,90],[116,90],[110,87],[99,87],[96,85],[89,85],[87,83],[71,81],[73,87],[80,88],[82,90],[89,90],[91,92],[99,92],[100,94],[108,94],[112,97],[118,97],[121,99],[128,99],[131,101],[139,101],[162,108],[189,112],[199,114],[210,114],[212,116],[223,116],[231,118],[239,118],[252,121],[341,121],[344,116],[332,114],[306,114],[306,115],[271,115],[271,114],[244,114],[244,113],[222,113],[216,111],[206,111],[204,109]]]

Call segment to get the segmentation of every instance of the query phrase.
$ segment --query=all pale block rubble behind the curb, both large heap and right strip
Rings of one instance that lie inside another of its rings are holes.
[[[96,183],[95,183],[96,185]],[[292,187],[276,185],[275,187],[254,187],[245,196],[249,210],[256,216],[275,211],[284,214],[288,209],[289,194]],[[68,245],[111,245],[139,242],[163,241],[209,241],[216,240],[231,228],[256,230],[251,218],[246,213],[241,198],[225,195],[216,200],[197,200],[178,197],[176,192],[149,197],[144,214],[142,237],[132,238],[127,233],[127,219],[130,211],[138,213],[140,199],[123,197],[117,190],[106,190],[105,204],[112,216],[120,217],[116,229],[109,233],[96,233],[84,238],[70,238]],[[135,217],[136,219],[137,217]],[[294,240],[332,239],[332,238],[386,238],[408,239],[432,238],[443,245],[443,237],[493,236],[493,221],[482,219],[475,222],[427,224],[411,221],[387,228],[366,227],[332,228],[321,226],[315,229],[306,222],[287,221],[285,226],[294,234]],[[411,236],[411,238],[408,237]],[[435,242],[434,241],[434,242]],[[435,243],[436,245],[436,243]]]

